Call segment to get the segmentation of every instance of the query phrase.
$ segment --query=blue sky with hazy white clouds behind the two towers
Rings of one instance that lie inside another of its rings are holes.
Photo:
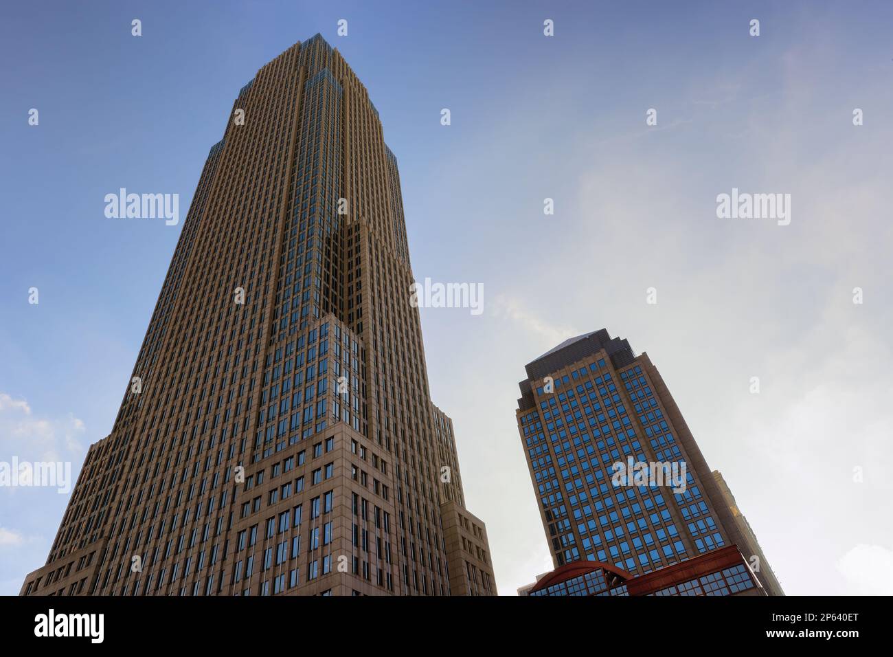
[[[893,7],[679,5],[4,4],[0,460],[77,470],[111,429],[182,221],[107,219],[104,195],[178,193],[185,217],[239,88],[320,32],[380,112],[416,278],[484,284],[481,316],[422,324],[502,593],[549,568],[523,366],[603,326],[661,369],[789,593],[893,593]],[[733,187],[790,193],[791,224],[717,219]],[[65,501],[0,489],[0,594]]]

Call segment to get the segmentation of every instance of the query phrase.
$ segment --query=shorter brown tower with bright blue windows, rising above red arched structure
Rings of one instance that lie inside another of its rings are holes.
[[[640,577],[737,545],[757,577],[772,573],[647,353],[602,329],[526,371],[518,430],[556,569],[590,560]],[[783,594],[774,576],[759,579]]]

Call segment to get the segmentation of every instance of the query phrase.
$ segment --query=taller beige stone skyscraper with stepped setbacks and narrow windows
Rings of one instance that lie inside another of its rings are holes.
[[[319,35],[241,89],[112,433],[23,594],[496,594],[396,157]]]

